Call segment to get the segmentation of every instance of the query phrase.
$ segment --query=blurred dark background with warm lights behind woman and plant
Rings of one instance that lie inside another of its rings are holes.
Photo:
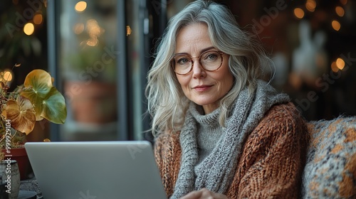
[[[0,2],[0,78],[51,72],[66,124],[36,124],[33,141],[146,139],[145,85],[152,53],[183,0]],[[356,5],[352,0],[217,1],[256,34],[274,66],[263,79],[305,119],[356,115]],[[16,63],[21,67],[11,68]]]

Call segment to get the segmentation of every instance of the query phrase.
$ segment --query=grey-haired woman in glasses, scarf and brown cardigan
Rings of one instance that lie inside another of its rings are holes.
[[[258,80],[270,63],[224,6],[169,21],[148,75],[155,157],[169,198],[297,198],[305,123]]]

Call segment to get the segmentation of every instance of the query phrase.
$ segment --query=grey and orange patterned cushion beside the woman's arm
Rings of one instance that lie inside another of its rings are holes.
[[[356,198],[356,117],[308,122],[303,198]]]

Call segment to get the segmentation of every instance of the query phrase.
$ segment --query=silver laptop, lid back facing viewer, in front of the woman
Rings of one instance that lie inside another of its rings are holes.
[[[27,142],[44,199],[167,198],[149,141]]]

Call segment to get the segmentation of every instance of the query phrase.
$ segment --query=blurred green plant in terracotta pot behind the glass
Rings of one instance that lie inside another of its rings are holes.
[[[68,67],[64,72],[63,89],[70,95],[75,122],[105,124],[116,120],[115,60],[109,55],[102,59],[107,55],[104,48],[84,46],[63,59]]]

